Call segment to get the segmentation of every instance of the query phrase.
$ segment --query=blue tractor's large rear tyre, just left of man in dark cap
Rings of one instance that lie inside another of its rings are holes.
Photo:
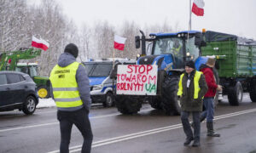
[[[177,98],[178,76],[166,76],[162,84],[161,107],[166,115],[180,115],[181,105]]]

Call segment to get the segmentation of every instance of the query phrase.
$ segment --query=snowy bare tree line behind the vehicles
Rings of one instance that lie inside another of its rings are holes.
[[[29,5],[26,0],[0,0],[0,53],[28,48],[32,36],[49,42],[49,49],[36,59],[39,74],[49,76],[67,43],[79,47],[79,60],[113,57],[114,34],[126,37],[125,50],[115,51],[116,58],[136,59],[141,50],[135,48],[134,37],[142,29],[149,32],[177,31],[178,24],[171,26],[167,21],[156,25],[139,26],[126,20],[115,26],[107,20],[97,20],[93,26],[84,23],[77,26],[62,13],[61,5],[55,0],[43,0],[38,5]]]

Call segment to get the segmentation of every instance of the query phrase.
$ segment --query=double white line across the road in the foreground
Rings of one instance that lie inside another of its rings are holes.
[[[224,114],[224,115],[221,115],[221,116],[215,116],[214,121],[224,119],[224,118],[229,118],[229,117],[232,117],[232,116],[240,116],[240,115],[255,112],[255,111],[256,111],[256,109],[251,109],[251,110],[247,110],[247,111],[237,111],[237,112],[234,112],[234,113]],[[114,143],[118,143],[118,142],[121,142],[121,141],[129,140],[129,139],[136,139],[136,138],[151,135],[151,134],[154,134],[154,133],[162,133],[162,132],[170,131],[172,129],[177,129],[177,128],[181,128],[181,127],[183,127],[183,126],[182,126],[181,123],[179,123],[179,124],[175,124],[175,125],[168,126],[168,127],[160,127],[160,128],[154,128],[154,129],[139,132],[139,133],[131,133],[131,134],[115,137],[115,138],[112,138],[112,139],[103,139],[103,140],[100,140],[100,141],[93,142],[92,145],[91,145],[91,148],[96,148],[96,147],[99,147],[99,146],[102,146],[102,145],[107,145],[107,144],[114,144]],[[81,150],[81,147],[82,147],[82,145],[76,145],[76,146],[70,147],[69,150],[70,150],[71,153],[72,152],[78,152],[78,151]],[[60,151],[59,150],[54,150],[54,151],[50,151],[48,153],[58,153],[58,152],[60,152]]]

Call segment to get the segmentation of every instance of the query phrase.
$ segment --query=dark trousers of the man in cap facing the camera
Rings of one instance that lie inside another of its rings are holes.
[[[193,115],[193,122],[195,124],[194,127],[194,134],[192,132],[191,126],[189,124],[189,112],[188,111],[182,111],[181,113],[181,120],[183,123],[183,130],[184,133],[187,136],[187,139],[192,139],[194,138],[195,140],[200,141],[200,111],[193,111],[191,112]]]

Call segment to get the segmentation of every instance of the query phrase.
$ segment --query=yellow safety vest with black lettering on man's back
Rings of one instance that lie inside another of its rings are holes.
[[[55,103],[58,108],[68,110],[82,108],[83,101],[80,99],[79,85],[76,81],[76,73],[79,62],[73,62],[66,67],[55,65],[50,73],[49,80],[52,84]]]

